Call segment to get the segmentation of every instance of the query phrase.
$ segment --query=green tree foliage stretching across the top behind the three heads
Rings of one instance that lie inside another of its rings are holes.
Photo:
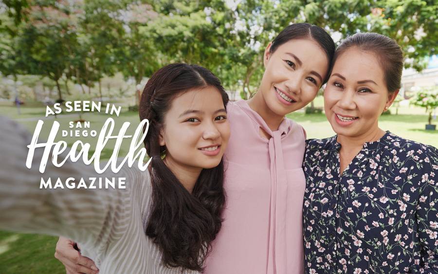
[[[394,38],[406,67],[437,53],[438,4],[430,0],[14,0],[0,9],[0,72],[36,74],[90,88],[121,72],[136,84],[171,62],[209,68],[249,98],[266,46],[287,25],[309,22],[337,43],[359,31]],[[338,39],[340,38],[340,39]]]

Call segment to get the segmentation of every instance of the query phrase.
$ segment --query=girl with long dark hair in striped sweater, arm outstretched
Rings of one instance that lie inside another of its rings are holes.
[[[51,177],[126,177],[126,190],[38,189],[38,164],[24,167],[32,136],[1,118],[0,227],[69,237],[100,273],[201,272],[222,222],[227,103],[207,69],[165,66],[140,102],[140,118],[150,123],[149,170],[124,166],[99,176],[79,162],[46,167]]]

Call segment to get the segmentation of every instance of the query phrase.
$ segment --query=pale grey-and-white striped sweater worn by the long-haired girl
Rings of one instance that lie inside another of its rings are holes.
[[[32,168],[25,167],[32,136],[17,123],[0,117],[0,228],[64,236],[77,241],[85,256],[106,273],[173,274],[181,269],[161,263],[159,248],[146,236],[151,202],[150,175],[125,165],[113,174],[97,174],[80,161],[38,171],[43,150]],[[125,177],[126,189],[40,189],[41,177]],[[195,272],[186,272],[195,273]]]

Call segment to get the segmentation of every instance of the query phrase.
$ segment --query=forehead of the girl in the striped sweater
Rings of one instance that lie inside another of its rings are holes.
[[[175,96],[168,113],[206,109],[216,111],[222,108],[223,102],[220,92],[215,87],[208,86],[184,91]]]

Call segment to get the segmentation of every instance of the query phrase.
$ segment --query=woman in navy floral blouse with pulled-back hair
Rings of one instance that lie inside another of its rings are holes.
[[[309,140],[304,163],[306,273],[438,273],[438,154],[378,127],[400,89],[402,50],[356,34],[324,91],[337,133]]]

